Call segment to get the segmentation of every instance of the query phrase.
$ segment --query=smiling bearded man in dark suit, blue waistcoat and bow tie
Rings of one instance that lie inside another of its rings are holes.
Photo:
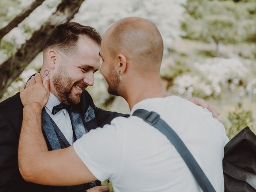
[[[48,150],[66,148],[91,129],[122,115],[97,108],[85,90],[94,84],[94,72],[100,66],[100,42],[94,28],[76,22],[57,26],[46,39],[40,75],[51,79],[50,98],[42,109]],[[84,192],[101,185],[93,181],[57,187],[24,181],[18,170],[22,108],[19,93],[0,103],[0,192]]]

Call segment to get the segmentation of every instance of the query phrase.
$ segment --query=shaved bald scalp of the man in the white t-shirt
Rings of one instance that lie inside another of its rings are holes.
[[[162,62],[163,41],[156,26],[143,18],[124,18],[115,22],[105,34],[113,56],[124,54],[134,67],[158,70]]]

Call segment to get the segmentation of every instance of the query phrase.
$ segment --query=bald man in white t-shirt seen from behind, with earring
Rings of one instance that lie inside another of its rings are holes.
[[[122,96],[131,113],[142,108],[160,114],[182,138],[215,190],[224,191],[224,126],[208,110],[167,96],[160,80],[162,54],[162,37],[150,21],[125,18],[114,23],[100,50],[108,92]],[[115,192],[201,191],[170,141],[136,116],[115,118],[73,146],[48,152],[41,131],[48,84],[47,77],[42,82],[36,75],[20,92],[24,116],[18,158],[25,180],[76,185],[110,179]]]

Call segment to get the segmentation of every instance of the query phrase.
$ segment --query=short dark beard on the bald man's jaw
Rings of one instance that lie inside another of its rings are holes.
[[[108,82],[108,93],[120,96],[119,85],[121,80],[119,78],[119,74],[114,70],[114,67],[110,69],[108,77],[108,79],[106,78],[106,81]]]

